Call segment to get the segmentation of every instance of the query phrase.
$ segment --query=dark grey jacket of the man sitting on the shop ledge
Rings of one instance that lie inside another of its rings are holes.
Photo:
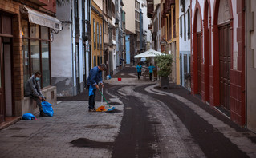
[[[35,97],[44,97],[41,88],[40,81],[35,81],[35,76],[32,75],[28,81],[26,81],[25,85],[25,96],[33,95]]]

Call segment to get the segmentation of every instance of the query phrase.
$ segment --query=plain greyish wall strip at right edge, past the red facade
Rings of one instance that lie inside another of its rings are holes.
[[[246,0],[246,125],[256,132],[256,2]]]

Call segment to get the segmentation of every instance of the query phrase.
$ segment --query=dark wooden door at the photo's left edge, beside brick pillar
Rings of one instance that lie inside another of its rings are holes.
[[[2,38],[0,37],[0,123],[4,121],[5,118],[5,86],[4,86],[4,62],[3,62],[3,47]]]

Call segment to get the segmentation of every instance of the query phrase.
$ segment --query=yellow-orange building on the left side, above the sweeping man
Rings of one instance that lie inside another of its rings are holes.
[[[104,62],[103,11],[91,1],[91,63],[92,67]]]

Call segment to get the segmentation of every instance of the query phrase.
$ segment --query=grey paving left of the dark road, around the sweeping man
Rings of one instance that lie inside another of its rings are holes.
[[[114,142],[124,105],[113,106],[120,113],[89,113],[87,101],[63,101],[53,106],[54,117],[21,120],[1,130],[0,157],[111,157],[111,148],[79,148],[70,142],[79,138]]]

